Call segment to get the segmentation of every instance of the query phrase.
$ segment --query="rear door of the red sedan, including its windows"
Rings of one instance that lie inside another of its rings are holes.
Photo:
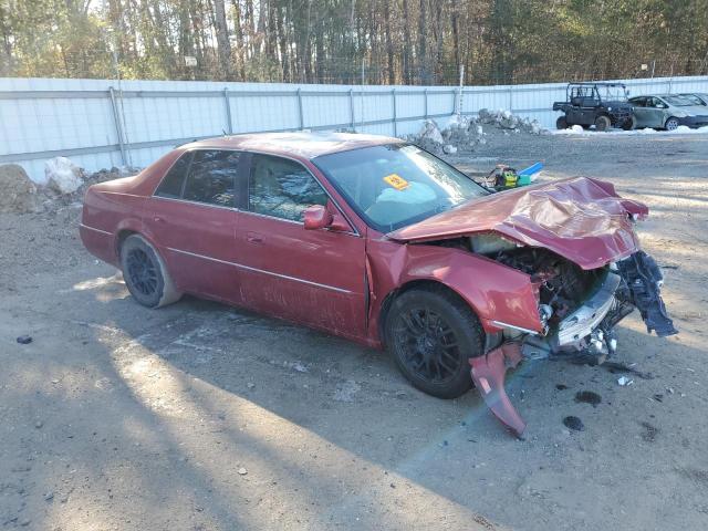
[[[235,243],[242,154],[183,155],[148,199],[144,223],[180,291],[240,302]]]

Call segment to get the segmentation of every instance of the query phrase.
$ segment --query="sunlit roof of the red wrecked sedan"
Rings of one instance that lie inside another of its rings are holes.
[[[251,133],[228,135],[194,142],[181,148],[244,149],[272,153],[274,155],[294,155],[302,158],[315,158],[332,153],[378,146],[400,144],[403,140],[389,136],[364,135],[357,133]]]

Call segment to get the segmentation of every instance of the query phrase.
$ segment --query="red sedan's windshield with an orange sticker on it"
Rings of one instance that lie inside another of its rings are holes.
[[[489,194],[452,166],[408,144],[323,155],[313,163],[352,208],[382,232]]]

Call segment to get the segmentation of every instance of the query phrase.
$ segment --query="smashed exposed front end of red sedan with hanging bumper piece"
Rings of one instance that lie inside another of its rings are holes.
[[[517,436],[525,423],[503,383],[507,368],[522,357],[573,356],[603,363],[617,347],[615,325],[635,308],[647,332],[662,337],[678,333],[662,300],[662,272],[644,251],[590,271],[543,249],[503,249],[494,259],[531,277],[543,325],[542,333],[504,329],[501,344],[470,360],[472,379],[486,404]]]

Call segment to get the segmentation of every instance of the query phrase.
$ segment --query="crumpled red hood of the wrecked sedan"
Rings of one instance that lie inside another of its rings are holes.
[[[413,243],[496,232],[595,269],[638,250],[629,215],[647,214],[612,184],[575,177],[492,194],[386,236]]]

